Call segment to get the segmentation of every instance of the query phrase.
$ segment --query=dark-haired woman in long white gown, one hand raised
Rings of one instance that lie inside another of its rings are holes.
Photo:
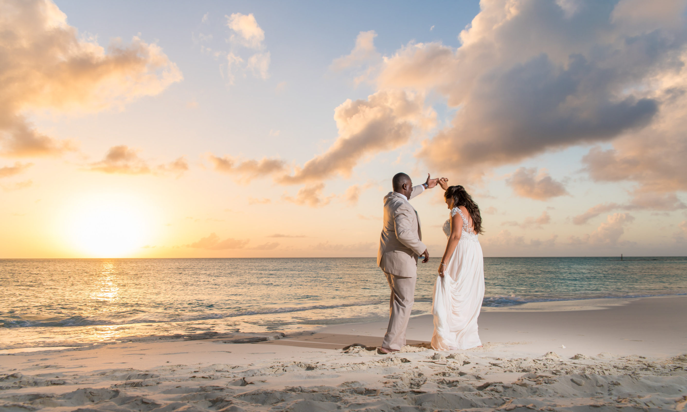
[[[484,299],[484,259],[477,235],[482,233],[480,208],[463,186],[438,183],[451,218],[444,223],[449,238],[434,285],[431,346],[440,351],[470,349],[482,345],[477,317]]]

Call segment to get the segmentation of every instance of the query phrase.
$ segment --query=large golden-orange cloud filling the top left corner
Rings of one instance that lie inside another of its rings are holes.
[[[49,0],[0,3],[0,154],[60,155],[74,149],[36,130],[27,113],[100,111],[153,96],[181,80],[155,44],[134,37],[107,48],[80,36]]]

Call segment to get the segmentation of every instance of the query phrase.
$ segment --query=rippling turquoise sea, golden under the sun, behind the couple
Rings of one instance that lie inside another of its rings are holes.
[[[0,259],[0,349],[314,329],[388,316],[374,258]],[[438,260],[418,265],[431,310]],[[687,294],[687,257],[486,258],[485,306]]]

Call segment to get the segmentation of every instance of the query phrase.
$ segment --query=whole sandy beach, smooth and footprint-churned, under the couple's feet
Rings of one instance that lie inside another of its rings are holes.
[[[427,315],[391,355],[374,349],[384,322],[12,349],[0,411],[682,411],[686,313],[687,296],[488,308],[484,347],[451,352],[423,347]]]

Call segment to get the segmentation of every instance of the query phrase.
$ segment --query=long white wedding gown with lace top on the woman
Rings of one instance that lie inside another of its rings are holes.
[[[458,246],[446,263],[444,277],[437,277],[431,312],[434,334],[431,346],[439,351],[470,349],[482,345],[477,334],[477,317],[484,299],[484,259],[474,228],[460,208],[451,209],[463,219]],[[451,235],[451,219],[444,223],[444,233]]]

